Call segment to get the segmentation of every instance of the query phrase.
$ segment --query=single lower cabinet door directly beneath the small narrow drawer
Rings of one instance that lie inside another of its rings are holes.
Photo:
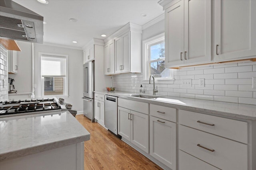
[[[176,123],[150,116],[150,155],[176,169]]]

